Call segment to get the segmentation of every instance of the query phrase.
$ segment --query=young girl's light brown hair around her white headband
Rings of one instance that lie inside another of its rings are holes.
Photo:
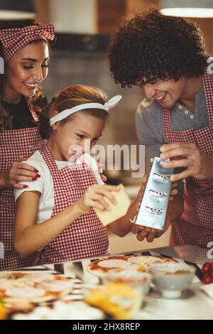
[[[84,103],[100,103],[107,102],[107,95],[97,87],[85,86],[85,85],[73,85],[68,86],[62,90],[57,97],[53,97],[50,104],[47,104],[43,111],[39,114],[39,131],[43,139],[50,137],[52,128],[50,126],[50,118],[53,117],[54,112],[62,112],[65,109],[71,109]],[[93,117],[101,118],[107,121],[109,118],[108,112],[104,109],[84,109],[75,114],[71,114],[69,117],[63,119],[60,122],[67,122],[74,119],[77,114],[89,114]]]

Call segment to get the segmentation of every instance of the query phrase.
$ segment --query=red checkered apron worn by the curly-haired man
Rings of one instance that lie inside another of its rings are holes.
[[[209,126],[194,131],[171,131],[170,110],[164,112],[164,130],[167,143],[194,143],[208,155],[213,154],[213,82],[205,72],[204,94],[207,102]],[[202,112],[202,110],[200,110]],[[171,244],[197,244],[207,247],[213,241],[213,179],[187,178],[184,193],[184,212],[173,223]]]

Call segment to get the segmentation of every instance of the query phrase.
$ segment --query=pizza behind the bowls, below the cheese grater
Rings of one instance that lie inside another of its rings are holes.
[[[90,274],[102,278],[109,273],[109,271],[118,269],[123,270],[128,267],[134,267],[139,271],[148,271],[149,266],[153,264],[176,262],[174,259],[167,257],[152,257],[147,255],[121,255],[118,257],[106,257],[91,262],[87,266]]]

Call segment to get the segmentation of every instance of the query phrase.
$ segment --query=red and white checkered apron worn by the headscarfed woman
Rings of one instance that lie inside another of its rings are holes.
[[[42,149],[44,144],[37,127],[0,131],[0,172],[6,171],[21,156],[31,156]],[[0,270],[31,266],[37,259],[36,254],[20,259],[13,248],[15,211],[14,189],[0,189],[0,242],[4,244],[4,259],[0,259]]]

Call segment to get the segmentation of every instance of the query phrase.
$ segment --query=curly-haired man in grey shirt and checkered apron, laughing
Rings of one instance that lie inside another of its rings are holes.
[[[146,145],[146,164],[160,150],[160,158],[170,158],[163,167],[179,168],[170,178],[178,181],[179,190],[168,208],[174,222],[171,244],[207,247],[213,241],[213,82],[208,57],[194,23],[155,9],[123,21],[109,45],[115,82],[137,85],[145,97],[137,109],[136,129]],[[148,241],[160,235],[147,227],[140,232],[134,226],[133,232]]]

